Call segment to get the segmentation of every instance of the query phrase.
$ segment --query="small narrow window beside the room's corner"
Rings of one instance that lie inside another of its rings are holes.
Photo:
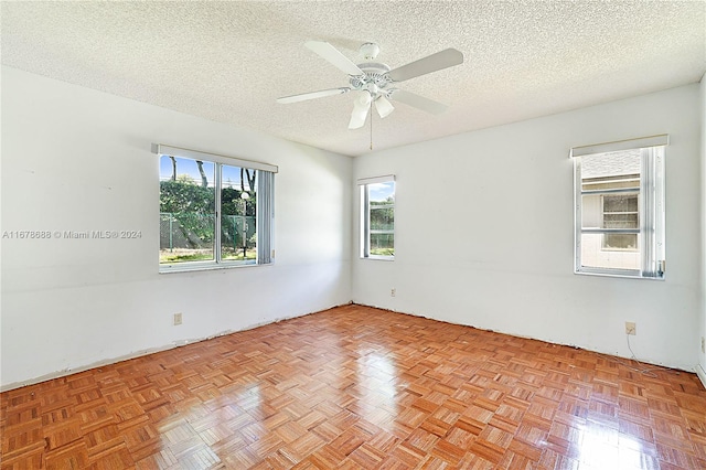
[[[395,259],[395,177],[359,180],[361,257]]]

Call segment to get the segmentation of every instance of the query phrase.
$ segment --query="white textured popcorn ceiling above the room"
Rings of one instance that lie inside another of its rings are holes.
[[[375,150],[699,81],[705,1],[2,2],[2,63],[349,156],[353,94],[280,105],[347,85],[304,47],[353,62],[363,42],[395,68],[454,47],[462,65],[399,88],[449,105],[374,116]],[[172,142],[178,145],[179,142]]]

